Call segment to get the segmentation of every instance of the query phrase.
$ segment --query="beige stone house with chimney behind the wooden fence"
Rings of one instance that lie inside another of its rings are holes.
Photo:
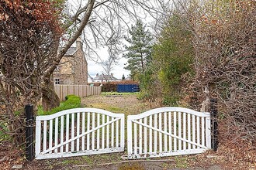
[[[54,84],[86,85],[88,64],[83,52],[81,39],[76,41],[76,47],[71,47],[54,70]]]

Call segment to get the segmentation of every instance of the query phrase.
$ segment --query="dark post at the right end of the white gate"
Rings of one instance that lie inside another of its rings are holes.
[[[210,100],[210,114],[211,114],[211,135],[212,135],[212,149],[213,151],[217,151],[218,148],[218,124],[217,124],[217,100],[211,99]]]

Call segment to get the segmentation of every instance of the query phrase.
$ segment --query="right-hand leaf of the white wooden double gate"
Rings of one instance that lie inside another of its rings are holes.
[[[210,149],[210,114],[161,107],[127,120],[128,158],[197,154]]]

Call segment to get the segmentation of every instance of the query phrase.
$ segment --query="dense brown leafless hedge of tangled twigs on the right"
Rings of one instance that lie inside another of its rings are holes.
[[[181,1],[179,1],[181,2]],[[227,133],[255,142],[256,2],[208,0],[180,3],[192,26],[195,80],[204,110],[219,101]]]

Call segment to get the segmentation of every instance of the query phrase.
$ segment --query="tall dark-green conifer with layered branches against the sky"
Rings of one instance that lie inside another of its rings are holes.
[[[151,49],[153,39],[150,32],[145,30],[145,26],[141,20],[137,20],[136,25],[129,30],[130,37],[126,37],[126,41],[130,46],[125,46],[127,53],[123,57],[128,59],[126,70],[130,70],[131,78],[137,80],[140,74],[144,73],[148,63],[151,60]]]

